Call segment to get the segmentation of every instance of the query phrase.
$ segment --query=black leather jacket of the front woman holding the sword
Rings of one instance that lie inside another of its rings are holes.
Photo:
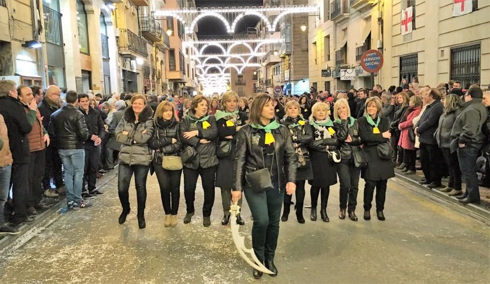
[[[243,190],[246,184],[245,174],[264,168],[263,148],[258,144],[261,129],[250,125],[242,127],[237,134],[237,155],[235,159],[235,189]],[[291,133],[286,126],[272,130],[275,140],[275,161],[272,162],[272,181],[278,181],[279,188],[287,182],[296,181],[297,159]],[[256,137],[256,138],[253,138]],[[257,143],[255,143],[257,142]]]

